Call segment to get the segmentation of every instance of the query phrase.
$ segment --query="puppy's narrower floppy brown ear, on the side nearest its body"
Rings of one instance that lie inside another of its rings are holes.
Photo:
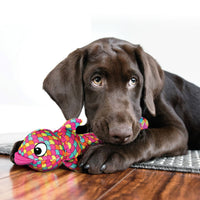
[[[139,68],[144,76],[144,103],[149,112],[155,116],[154,99],[160,94],[164,84],[164,72],[157,61],[145,53],[139,45],[135,50]]]

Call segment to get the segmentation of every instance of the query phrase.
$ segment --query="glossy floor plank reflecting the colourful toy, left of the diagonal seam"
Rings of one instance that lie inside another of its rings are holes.
[[[7,173],[8,170],[3,169]],[[89,175],[66,169],[35,172],[27,167],[14,166],[9,176],[0,179],[0,194],[3,200],[97,199],[132,171],[134,169],[108,175]]]

